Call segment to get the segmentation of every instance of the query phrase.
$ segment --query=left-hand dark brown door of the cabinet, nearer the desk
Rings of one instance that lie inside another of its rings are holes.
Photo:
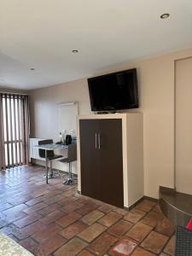
[[[80,158],[81,158],[81,193],[100,200],[101,183],[99,152],[97,149],[98,121],[82,119],[79,122]]]

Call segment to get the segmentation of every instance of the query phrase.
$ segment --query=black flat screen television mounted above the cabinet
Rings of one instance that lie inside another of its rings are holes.
[[[92,111],[138,108],[137,69],[88,79]]]

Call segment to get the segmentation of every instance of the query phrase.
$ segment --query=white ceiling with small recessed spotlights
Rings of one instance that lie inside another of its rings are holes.
[[[0,0],[0,87],[60,84],[190,47],[191,0]]]

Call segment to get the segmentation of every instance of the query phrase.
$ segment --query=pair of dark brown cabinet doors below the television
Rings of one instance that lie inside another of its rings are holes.
[[[82,119],[79,131],[81,193],[124,207],[121,119]]]

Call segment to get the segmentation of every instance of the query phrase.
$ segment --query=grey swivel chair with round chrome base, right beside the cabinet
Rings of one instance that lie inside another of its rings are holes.
[[[71,163],[73,161],[77,160],[77,144],[69,144],[68,145],[68,156],[67,158],[59,160],[61,163],[68,163],[69,168],[68,168],[68,177],[62,182],[65,185],[71,185],[74,183],[74,177],[72,173],[72,165]]]

